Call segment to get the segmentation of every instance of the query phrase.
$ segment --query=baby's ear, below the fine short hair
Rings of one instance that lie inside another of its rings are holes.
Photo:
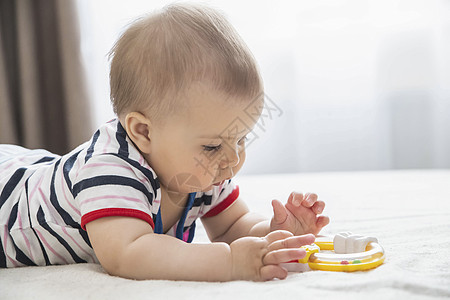
[[[143,153],[150,153],[150,135],[152,124],[150,120],[139,112],[130,112],[123,124],[128,136]]]

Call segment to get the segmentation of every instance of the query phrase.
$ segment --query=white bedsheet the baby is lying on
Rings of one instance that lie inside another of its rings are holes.
[[[243,176],[238,183],[249,207],[267,217],[272,199],[316,192],[331,218],[323,234],[376,236],[386,261],[366,272],[291,273],[264,283],[134,281],[94,264],[2,269],[0,299],[450,298],[450,170]],[[195,242],[205,241],[199,226]]]

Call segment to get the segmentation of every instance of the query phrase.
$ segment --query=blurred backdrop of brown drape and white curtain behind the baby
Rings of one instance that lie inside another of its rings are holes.
[[[89,139],[114,117],[108,51],[168,3],[1,0],[0,142]],[[202,3],[247,42],[271,105],[241,174],[450,168],[450,1]]]

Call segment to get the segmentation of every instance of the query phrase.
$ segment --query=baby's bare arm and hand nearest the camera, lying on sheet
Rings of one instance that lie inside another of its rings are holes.
[[[188,244],[154,234],[140,219],[104,217],[86,225],[92,247],[111,275],[132,279],[227,281],[285,278],[278,264],[304,257],[298,249],[313,236],[276,231],[263,238],[226,243]]]

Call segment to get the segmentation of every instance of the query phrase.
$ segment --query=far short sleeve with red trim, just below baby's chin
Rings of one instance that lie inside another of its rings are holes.
[[[212,191],[211,205],[204,210],[203,218],[214,217],[226,210],[239,197],[239,186],[229,179],[221,186],[214,187]]]

